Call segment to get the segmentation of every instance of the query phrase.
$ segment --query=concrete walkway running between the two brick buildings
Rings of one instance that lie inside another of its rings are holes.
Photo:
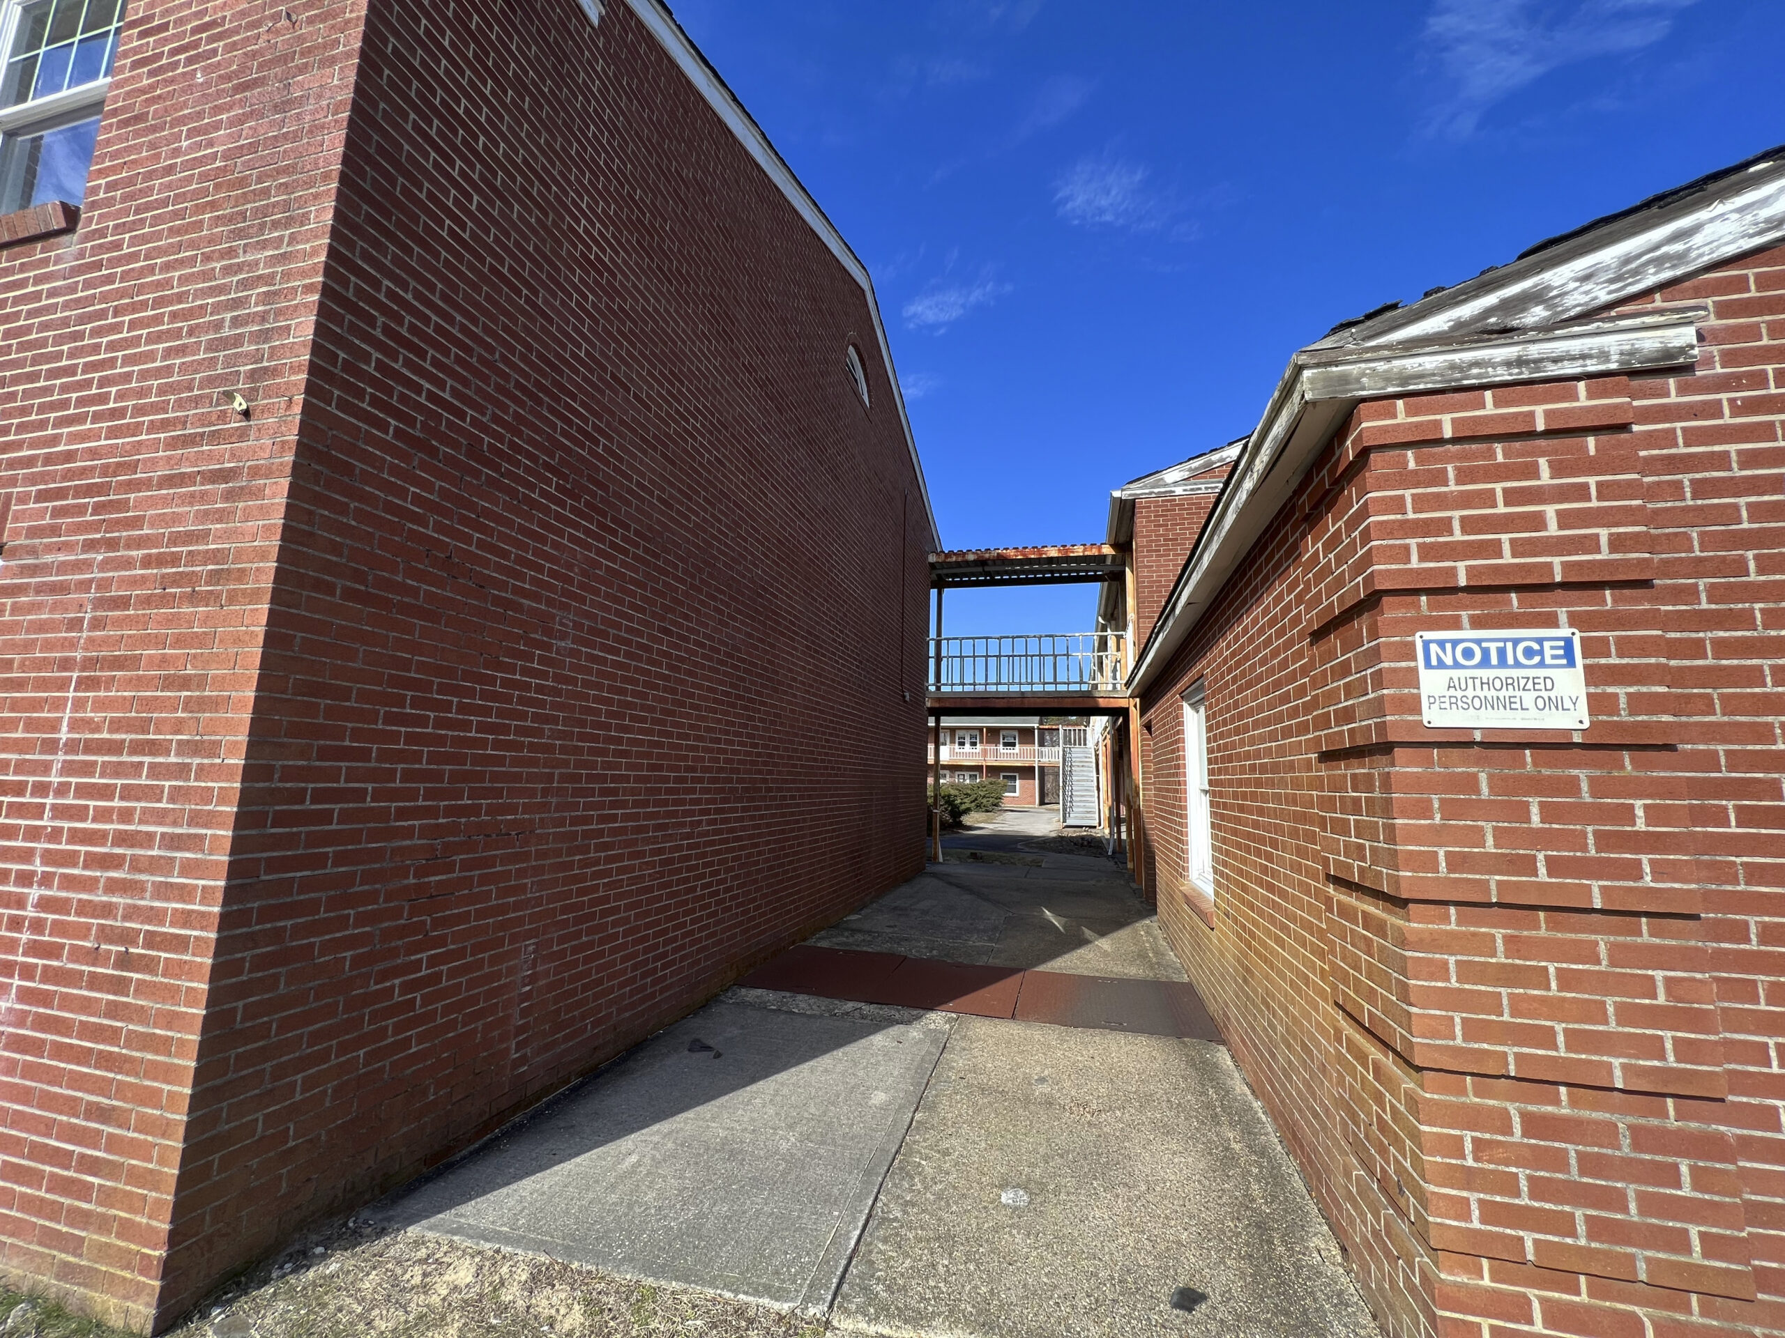
[[[812,944],[1182,981],[1053,837],[1005,814]],[[734,988],[377,1217],[851,1333],[1374,1334],[1226,1049],[1180,1035]]]

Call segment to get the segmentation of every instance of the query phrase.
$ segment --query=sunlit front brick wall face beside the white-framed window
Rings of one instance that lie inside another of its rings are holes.
[[[132,0],[79,232],[0,250],[0,1276],[127,1324],[159,1290],[362,7],[298,9]]]

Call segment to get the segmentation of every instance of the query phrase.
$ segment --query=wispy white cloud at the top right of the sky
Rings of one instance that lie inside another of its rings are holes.
[[[1698,0],[1437,0],[1423,37],[1444,93],[1421,132],[1467,139],[1494,103],[1551,70],[1653,46],[1692,4]]]

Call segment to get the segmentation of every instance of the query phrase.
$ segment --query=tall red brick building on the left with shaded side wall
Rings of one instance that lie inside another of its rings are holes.
[[[939,544],[655,0],[0,14],[0,1276],[159,1327],[923,867]]]

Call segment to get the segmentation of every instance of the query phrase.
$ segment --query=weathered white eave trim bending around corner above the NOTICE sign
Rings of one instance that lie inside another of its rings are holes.
[[[1366,400],[1573,380],[1698,360],[1703,307],[1669,307],[1564,330],[1423,341],[1414,348],[1301,350],[1251,434],[1128,676],[1139,696],[1171,662],[1333,432]]]

